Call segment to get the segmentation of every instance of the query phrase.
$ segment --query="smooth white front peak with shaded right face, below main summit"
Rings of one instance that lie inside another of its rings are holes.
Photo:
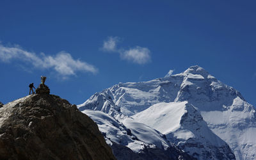
[[[162,132],[168,141],[197,159],[235,159],[227,143],[207,127],[200,113],[186,101],[154,104],[132,118]]]

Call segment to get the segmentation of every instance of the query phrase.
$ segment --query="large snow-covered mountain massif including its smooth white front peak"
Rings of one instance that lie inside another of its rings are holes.
[[[211,156],[221,150],[224,157],[232,159],[225,145],[227,142],[236,159],[256,159],[255,109],[241,93],[198,66],[189,67],[180,74],[169,72],[152,81],[116,84],[95,93],[79,105],[79,109],[102,111],[119,122],[134,118],[168,135],[168,140],[180,147],[193,140],[193,149],[186,145],[183,149],[194,156],[202,153],[202,146],[195,144],[203,144],[218,148],[210,153]],[[154,114],[149,116],[152,109],[155,109]],[[154,124],[156,120],[161,123]]]

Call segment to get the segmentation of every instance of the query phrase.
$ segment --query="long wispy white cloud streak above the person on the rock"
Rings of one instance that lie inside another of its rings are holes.
[[[65,51],[61,51],[54,56],[47,56],[44,53],[38,55],[34,52],[25,51],[17,45],[14,47],[5,47],[0,44],[0,60],[4,62],[19,60],[30,63],[35,68],[53,68],[60,76],[73,76],[78,71],[97,73],[97,68],[93,65],[84,61],[74,60]]]

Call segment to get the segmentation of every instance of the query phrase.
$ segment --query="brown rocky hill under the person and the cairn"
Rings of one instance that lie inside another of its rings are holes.
[[[0,159],[115,159],[95,122],[56,95],[0,108]]]

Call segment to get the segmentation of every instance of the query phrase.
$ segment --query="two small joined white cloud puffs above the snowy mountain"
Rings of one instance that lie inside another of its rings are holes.
[[[120,42],[120,38],[117,36],[109,36],[107,40],[103,42],[102,51],[118,52],[122,60],[132,61],[143,65],[150,62],[150,50],[146,47],[132,47],[130,49],[117,48],[117,43]]]

